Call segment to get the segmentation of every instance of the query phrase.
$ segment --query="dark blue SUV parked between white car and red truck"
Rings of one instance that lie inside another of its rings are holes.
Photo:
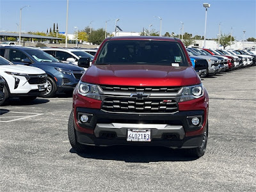
[[[84,68],[61,63],[50,54],[31,47],[1,47],[0,55],[14,64],[29,65],[44,70],[47,74],[47,90],[41,97],[54,97],[58,92],[72,92]]]

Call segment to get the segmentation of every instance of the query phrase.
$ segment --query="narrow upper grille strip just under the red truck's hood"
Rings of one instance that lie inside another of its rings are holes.
[[[113,86],[100,85],[103,92],[164,92],[177,93],[182,87],[143,87],[143,86]]]

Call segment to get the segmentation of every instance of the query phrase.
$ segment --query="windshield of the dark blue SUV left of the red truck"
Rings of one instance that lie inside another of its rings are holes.
[[[40,62],[59,62],[51,54],[47,52],[35,49],[35,50],[26,50],[30,56],[32,56],[36,61]]]

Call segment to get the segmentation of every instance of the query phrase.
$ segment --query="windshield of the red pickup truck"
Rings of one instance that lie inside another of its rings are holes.
[[[189,67],[179,43],[156,40],[108,41],[97,57],[95,65],[100,64]]]

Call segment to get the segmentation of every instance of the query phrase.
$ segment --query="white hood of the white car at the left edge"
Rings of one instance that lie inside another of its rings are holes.
[[[31,75],[45,74],[44,70],[41,68],[30,67],[26,65],[0,65],[0,70]]]

